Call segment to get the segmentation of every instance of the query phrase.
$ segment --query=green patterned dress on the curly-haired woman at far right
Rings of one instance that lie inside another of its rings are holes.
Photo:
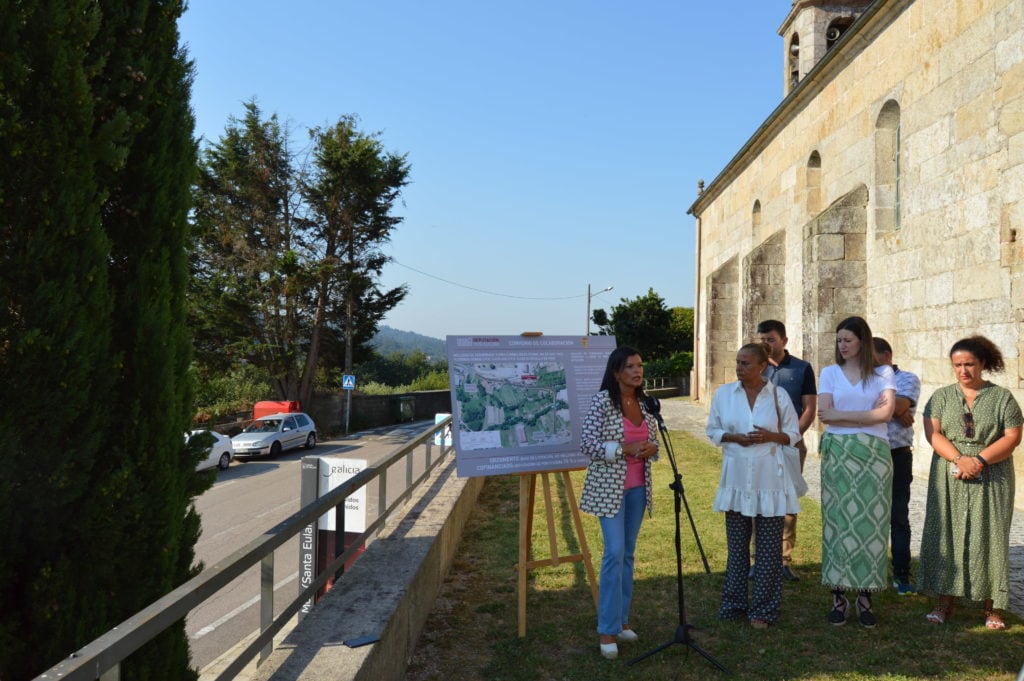
[[[925,407],[926,419],[937,419],[942,434],[965,457],[977,456],[1024,424],[1021,409],[1006,388],[986,383],[975,397],[974,437],[964,434],[968,411],[959,385],[935,391]],[[957,480],[948,461],[933,453],[928,478],[928,506],[921,539],[921,588],[972,601],[992,599],[993,607],[1010,604],[1010,520],[1014,512],[1013,457],[989,464],[979,480]]]

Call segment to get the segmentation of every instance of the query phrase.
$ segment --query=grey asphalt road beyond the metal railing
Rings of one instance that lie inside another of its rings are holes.
[[[196,500],[203,523],[196,545],[197,559],[213,565],[298,511],[299,464],[303,457],[365,459],[373,466],[430,425],[433,422],[416,421],[367,430],[321,441],[312,451],[294,450],[276,459],[236,462],[227,470],[218,471],[213,487]],[[422,458],[418,457],[413,475],[422,470]],[[403,465],[389,471],[389,503],[404,491],[404,476]],[[374,514],[376,485],[369,490],[369,513]],[[283,610],[298,591],[298,538],[274,552],[274,612]],[[258,629],[259,566],[254,565],[189,613],[185,631],[194,666],[203,669]]]

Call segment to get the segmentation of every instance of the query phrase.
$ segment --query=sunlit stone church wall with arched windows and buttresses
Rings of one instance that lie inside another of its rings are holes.
[[[691,208],[698,399],[734,380],[760,318],[820,371],[836,322],[862,314],[922,406],[974,333],[1024,403],[1024,0],[877,4]]]

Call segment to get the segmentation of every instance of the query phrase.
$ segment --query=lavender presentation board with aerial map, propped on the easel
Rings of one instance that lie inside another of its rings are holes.
[[[459,477],[585,468],[583,419],[612,336],[449,336]]]

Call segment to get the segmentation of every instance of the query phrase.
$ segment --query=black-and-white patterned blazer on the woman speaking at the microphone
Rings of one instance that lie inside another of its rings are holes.
[[[647,423],[649,441],[657,444],[657,419],[648,414],[643,402],[640,403],[644,421]],[[604,443],[623,442],[623,413],[618,406],[612,403],[607,390],[601,390],[594,395],[590,412],[583,422],[582,451],[590,458],[587,467],[587,477],[583,482],[583,494],[580,496],[580,510],[591,515],[611,517],[618,512],[626,486],[626,456],[620,454],[614,461],[605,461]],[[644,463],[644,481],[647,488],[647,513],[653,511],[650,485],[650,464],[657,455]]]

